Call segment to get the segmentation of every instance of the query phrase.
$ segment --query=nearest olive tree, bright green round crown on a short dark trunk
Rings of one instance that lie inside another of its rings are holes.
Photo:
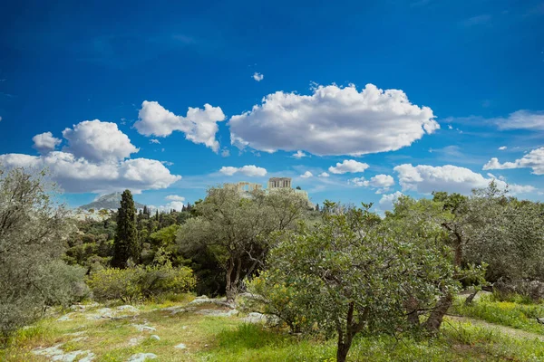
[[[363,208],[325,203],[322,223],[276,233],[267,271],[249,283],[261,311],[294,332],[337,337],[345,361],[356,334],[395,333],[409,327],[407,300],[421,310],[457,288],[442,229],[422,223],[406,230]],[[417,317],[417,314],[416,314]]]

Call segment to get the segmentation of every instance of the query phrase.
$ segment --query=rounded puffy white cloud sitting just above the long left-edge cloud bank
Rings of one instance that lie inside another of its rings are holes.
[[[117,162],[139,151],[131,144],[131,139],[117,129],[117,124],[98,119],[85,120],[73,129],[64,129],[63,137],[68,140],[63,151],[92,162]]]

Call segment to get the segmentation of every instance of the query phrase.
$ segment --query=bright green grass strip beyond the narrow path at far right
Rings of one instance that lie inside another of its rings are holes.
[[[539,324],[536,319],[544,317],[544,306],[539,304],[492,301],[491,297],[484,296],[468,306],[464,305],[461,299],[455,300],[450,312],[544,335],[544,326]]]

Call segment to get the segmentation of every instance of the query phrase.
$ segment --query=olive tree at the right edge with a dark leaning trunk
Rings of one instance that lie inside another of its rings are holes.
[[[471,196],[433,193],[432,200],[401,197],[387,218],[404,220],[408,227],[425,219],[442,226],[444,243],[452,249],[455,277],[473,292],[488,282],[539,279],[544,257],[542,205],[508,196],[494,182],[475,189]],[[452,305],[452,294],[439,301],[425,322],[436,331]]]

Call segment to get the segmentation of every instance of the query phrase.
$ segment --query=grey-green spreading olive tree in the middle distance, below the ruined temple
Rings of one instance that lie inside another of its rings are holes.
[[[296,224],[307,200],[291,189],[256,190],[249,195],[234,187],[213,187],[194,206],[197,217],[181,225],[177,236],[185,257],[210,253],[225,271],[226,294],[234,300],[243,279],[262,266],[270,233]]]

